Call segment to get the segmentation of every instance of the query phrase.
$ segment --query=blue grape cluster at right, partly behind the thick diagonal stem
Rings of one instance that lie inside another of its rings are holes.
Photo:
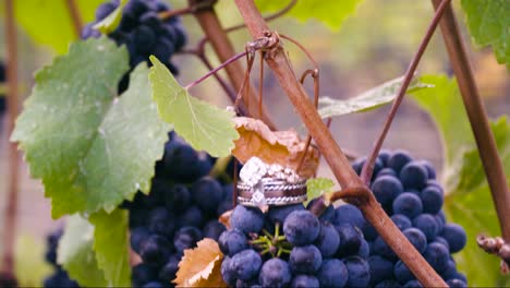
[[[361,172],[365,159],[353,163]],[[375,163],[372,191],[393,223],[450,287],[466,287],[451,253],[466,243],[464,229],[446,221],[444,191],[436,171],[426,160],[414,160],[408,152],[382,151]],[[394,252],[361,216],[355,206],[340,206],[349,223],[361,227],[369,243],[369,285],[374,287],[422,287]]]

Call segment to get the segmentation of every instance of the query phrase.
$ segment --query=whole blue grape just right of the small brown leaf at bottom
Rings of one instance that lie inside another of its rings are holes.
[[[257,276],[260,266],[260,255],[253,249],[243,250],[230,259],[230,267],[234,271],[235,278],[241,280]]]

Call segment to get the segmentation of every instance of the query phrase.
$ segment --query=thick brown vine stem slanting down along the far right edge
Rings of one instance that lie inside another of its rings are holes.
[[[438,9],[439,1],[432,1]],[[459,25],[451,5],[448,5],[440,28],[450,57],[453,72],[459,83],[459,89],[464,101],[465,111],[478,146],[478,153],[484,165],[487,182],[493,195],[493,202],[499,219],[503,239],[510,241],[510,190],[505,177],[505,169],[498,156],[496,141],[490,130],[484,103],[479,97],[478,87],[473,75],[470,59],[462,41]]]

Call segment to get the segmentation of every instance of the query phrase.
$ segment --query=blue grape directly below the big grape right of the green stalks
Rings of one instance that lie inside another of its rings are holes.
[[[323,264],[323,255],[315,245],[294,247],[289,265],[294,274],[314,274]]]

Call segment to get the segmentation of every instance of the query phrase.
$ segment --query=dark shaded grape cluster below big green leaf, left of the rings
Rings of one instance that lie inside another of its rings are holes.
[[[133,267],[135,287],[170,286],[183,251],[203,238],[218,240],[226,230],[218,218],[232,208],[233,185],[207,176],[212,159],[170,137],[150,193],[122,205],[130,212],[131,248],[142,259]]]

